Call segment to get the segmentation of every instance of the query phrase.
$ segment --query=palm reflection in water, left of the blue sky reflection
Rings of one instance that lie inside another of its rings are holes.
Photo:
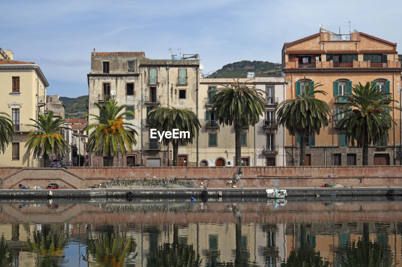
[[[51,227],[42,225],[41,231],[35,229],[28,237],[28,244],[35,253],[37,266],[58,266],[64,259],[64,247],[70,243],[63,225]]]

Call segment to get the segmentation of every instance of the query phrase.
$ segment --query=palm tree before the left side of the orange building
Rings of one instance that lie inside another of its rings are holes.
[[[300,165],[306,166],[306,138],[320,134],[321,127],[328,126],[328,116],[331,109],[328,104],[316,99],[316,94],[326,95],[322,90],[316,90],[322,86],[320,83],[310,87],[304,79],[305,91],[295,99],[287,99],[279,104],[277,110],[278,125],[285,126],[289,134],[300,136]]]

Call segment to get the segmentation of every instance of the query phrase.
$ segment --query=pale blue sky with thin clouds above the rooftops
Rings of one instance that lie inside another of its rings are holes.
[[[399,1],[9,1],[0,47],[35,62],[47,95],[88,95],[90,56],[144,51],[151,59],[199,54],[203,73],[236,61],[281,61],[284,42],[354,29],[402,44]],[[378,10],[376,12],[375,10]],[[398,52],[401,54],[400,49]]]

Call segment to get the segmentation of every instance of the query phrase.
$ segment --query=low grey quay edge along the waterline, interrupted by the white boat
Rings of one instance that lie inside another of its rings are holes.
[[[319,196],[401,196],[402,187],[354,187],[354,188],[285,188],[287,197]],[[58,189],[0,190],[0,198],[265,198],[266,188],[183,188],[183,189]]]

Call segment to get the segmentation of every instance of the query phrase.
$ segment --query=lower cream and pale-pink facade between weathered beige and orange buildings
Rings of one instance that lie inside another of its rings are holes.
[[[267,92],[264,115],[254,126],[244,127],[241,136],[242,166],[285,166],[284,129],[277,126],[275,110],[284,100],[283,77],[241,78]],[[269,76],[269,75],[267,75]],[[203,75],[201,75],[203,77]],[[237,80],[237,79],[236,79]],[[202,78],[199,85],[199,166],[235,166],[234,127],[221,125],[212,113],[211,90],[233,82],[233,78]]]

